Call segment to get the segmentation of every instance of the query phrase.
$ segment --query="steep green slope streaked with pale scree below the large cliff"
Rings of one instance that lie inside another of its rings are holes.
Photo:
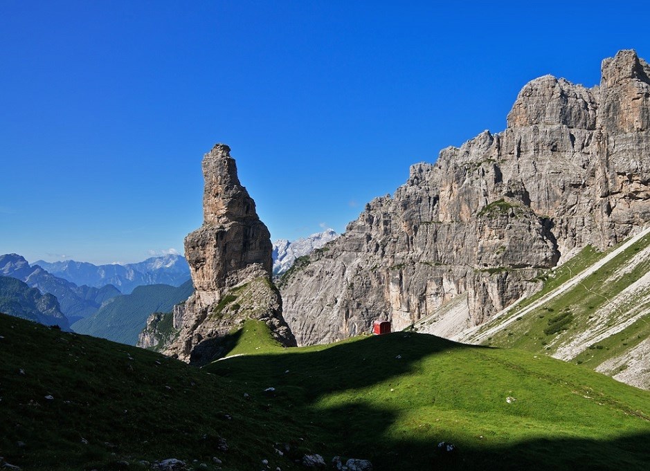
[[[608,252],[588,247],[544,281],[462,340],[552,355],[650,389],[650,234]]]

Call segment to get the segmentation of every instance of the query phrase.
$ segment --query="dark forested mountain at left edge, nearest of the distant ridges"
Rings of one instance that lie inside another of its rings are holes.
[[[70,330],[56,297],[47,293],[43,295],[16,278],[0,276],[0,312]]]

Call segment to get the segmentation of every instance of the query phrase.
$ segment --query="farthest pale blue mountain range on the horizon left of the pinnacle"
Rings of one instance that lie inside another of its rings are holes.
[[[181,255],[163,255],[126,265],[93,265],[75,260],[51,263],[39,260],[35,265],[42,266],[49,273],[78,285],[86,284],[99,288],[112,284],[123,294],[131,293],[136,286],[149,284],[180,286],[190,279],[190,267]]]

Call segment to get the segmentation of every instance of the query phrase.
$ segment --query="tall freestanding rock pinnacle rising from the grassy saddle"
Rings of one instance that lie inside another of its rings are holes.
[[[138,346],[201,364],[218,355],[228,333],[246,319],[266,322],[285,345],[296,341],[282,318],[282,299],[271,281],[271,238],[255,202],[237,178],[230,148],[217,144],[204,156],[204,223],[188,234],[185,253],[195,293],[174,307],[172,326],[152,315]]]

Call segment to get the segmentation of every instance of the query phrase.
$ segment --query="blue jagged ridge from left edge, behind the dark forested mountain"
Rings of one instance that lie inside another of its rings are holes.
[[[0,255],[0,276],[13,277],[24,281],[41,293],[54,295],[60,310],[70,322],[95,313],[103,302],[120,295],[115,286],[100,288],[77,286],[66,279],[56,277],[39,265],[31,265],[17,254]]]

